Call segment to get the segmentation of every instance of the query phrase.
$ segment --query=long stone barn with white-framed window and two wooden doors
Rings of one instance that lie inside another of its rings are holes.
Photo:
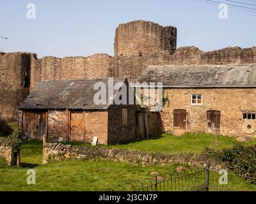
[[[150,66],[140,82],[163,82],[165,131],[256,136],[256,64]]]

